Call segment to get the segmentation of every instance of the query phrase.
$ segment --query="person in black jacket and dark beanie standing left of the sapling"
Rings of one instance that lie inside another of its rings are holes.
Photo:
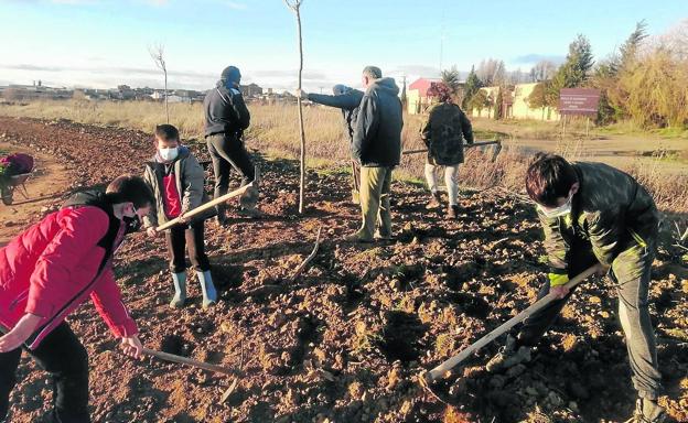
[[[258,197],[254,163],[244,147],[243,134],[250,123],[250,113],[239,90],[241,73],[235,66],[226,67],[215,88],[207,91],[205,109],[205,140],[215,172],[215,198],[227,193],[229,172],[234,169],[241,175],[241,186],[254,182],[239,198],[244,212],[254,214]],[[217,221],[226,221],[226,205],[217,206]]]

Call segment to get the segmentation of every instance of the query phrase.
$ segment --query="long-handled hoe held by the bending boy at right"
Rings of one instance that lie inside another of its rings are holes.
[[[576,278],[571,279],[569,281],[569,283],[567,283],[565,286],[570,290],[573,286],[576,286],[579,283],[581,283],[582,281],[584,281],[585,279],[588,279],[590,275],[594,274],[595,272],[598,272],[599,270],[602,270],[602,269],[603,269],[602,264],[595,264],[592,268],[590,268],[588,270],[584,270],[582,273],[578,274]],[[533,313],[535,313],[538,310],[545,307],[546,305],[551,303],[553,300],[556,300],[555,295],[550,292],[546,296],[544,296],[540,300],[536,301],[528,308],[526,308],[523,312],[518,313],[516,316],[509,318],[508,321],[503,323],[499,327],[497,327],[496,329],[492,330],[491,333],[488,333],[487,335],[483,336],[477,341],[472,344],[470,347],[465,348],[464,350],[462,350],[461,352],[459,352],[454,357],[451,357],[450,359],[448,359],[447,361],[442,362],[441,365],[439,365],[434,369],[429,370],[429,371],[424,372],[423,375],[421,375],[421,377],[420,377],[420,384],[422,384],[422,387],[426,388],[426,390],[428,390],[434,398],[437,398],[441,402],[447,403],[448,401],[445,401],[442,398],[440,398],[440,397],[442,397],[442,394],[439,394],[438,392],[433,391],[432,383],[434,383],[436,381],[438,381],[440,379],[443,379],[447,376],[449,376],[451,369],[453,369],[454,367],[459,366],[459,364],[461,364],[466,358],[471,357],[475,351],[477,351],[479,349],[481,349],[485,345],[492,343],[494,339],[499,337],[499,335],[506,333],[512,327],[516,326],[518,323],[525,321]]]

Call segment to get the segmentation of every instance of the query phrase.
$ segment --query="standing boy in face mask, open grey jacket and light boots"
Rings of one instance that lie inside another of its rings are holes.
[[[143,178],[155,196],[155,203],[143,218],[150,237],[158,235],[157,227],[183,216],[206,202],[204,191],[205,172],[198,161],[184,145],[180,144],[179,130],[172,124],[155,127],[155,156],[146,163]],[[211,262],[205,253],[203,218],[176,225],[165,231],[170,272],[174,284],[172,308],[181,308],[186,301],[186,254],[196,270],[203,308],[217,302],[217,291],[211,275]]]

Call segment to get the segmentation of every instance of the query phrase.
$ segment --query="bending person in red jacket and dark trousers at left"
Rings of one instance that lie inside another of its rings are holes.
[[[0,422],[23,347],[53,379],[54,422],[90,422],[88,355],[64,321],[88,296],[123,351],[139,358],[137,325],[112,274],[112,254],[138,229],[153,195],[119,176],[105,193],[73,196],[0,249]]]

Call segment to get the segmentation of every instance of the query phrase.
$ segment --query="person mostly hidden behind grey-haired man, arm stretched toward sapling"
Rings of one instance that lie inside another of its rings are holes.
[[[358,113],[358,106],[363,99],[363,91],[354,89],[342,84],[337,84],[332,87],[333,96],[326,94],[313,94],[297,90],[297,95],[302,99],[316,102],[323,106],[336,107],[342,109],[342,118],[344,118],[344,132],[352,142],[354,139],[354,126],[356,124],[356,115]],[[356,161],[352,160],[352,175],[353,175],[353,188],[352,200],[358,204],[358,173],[361,172]]]

